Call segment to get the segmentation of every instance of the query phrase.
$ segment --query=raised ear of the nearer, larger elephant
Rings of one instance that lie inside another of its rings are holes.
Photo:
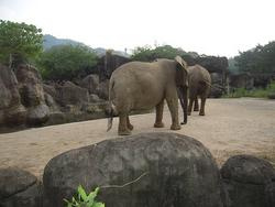
[[[180,67],[177,67],[176,84],[188,87],[187,63],[180,56],[176,56],[175,61],[180,65]]]

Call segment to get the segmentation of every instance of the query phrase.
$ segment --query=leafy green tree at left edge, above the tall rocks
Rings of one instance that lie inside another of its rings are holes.
[[[11,65],[35,59],[43,51],[41,32],[32,24],[0,20],[0,61]]]

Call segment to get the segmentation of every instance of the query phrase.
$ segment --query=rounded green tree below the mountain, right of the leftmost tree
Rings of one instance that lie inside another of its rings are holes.
[[[45,51],[38,65],[45,79],[70,80],[81,73],[90,73],[97,61],[97,55],[87,46],[58,45]]]

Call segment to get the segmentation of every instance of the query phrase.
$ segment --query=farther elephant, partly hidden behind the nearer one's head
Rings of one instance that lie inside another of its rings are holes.
[[[205,116],[206,99],[211,88],[211,77],[209,72],[200,65],[189,66],[188,68],[188,84],[189,84],[189,106],[188,116],[191,115],[193,105],[194,111],[199,111],[200,116]],[[200,97],[200,109],[198,103]]]

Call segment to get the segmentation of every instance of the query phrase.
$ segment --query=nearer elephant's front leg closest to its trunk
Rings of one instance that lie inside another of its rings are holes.
[[[169,111],[170,111],[170,117],[172,117],[172,130],[180,130],[180,126],[178,122],[178,99],[177,99],[177,94],[175,92],[175,96],[167,97],[166,98]]]

